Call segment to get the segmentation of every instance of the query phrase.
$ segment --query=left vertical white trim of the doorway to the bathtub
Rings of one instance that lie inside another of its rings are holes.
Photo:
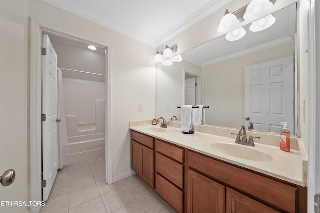
[[[30,19],[30,200],[41,201],[41,29]],[[31,206],[38,213],[41,206]]]

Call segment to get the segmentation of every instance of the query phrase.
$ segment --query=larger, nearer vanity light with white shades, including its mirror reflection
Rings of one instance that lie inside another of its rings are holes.
[[[276,0],[251,0],[247,6],[242,7],[233,14],[228,10],[225,10],[225,14],[222,17],[217,30],[219,32],[228,32],[225,35],[226,40],[236,41],[246,34],[244,28],[239,27],[240,22],[244,20],[255,20],[250,26],[250,31],[252,32],[259,32],[267,29],[272,26],[276,20],[272,14],[267,15],[272,11],[275,1]]]

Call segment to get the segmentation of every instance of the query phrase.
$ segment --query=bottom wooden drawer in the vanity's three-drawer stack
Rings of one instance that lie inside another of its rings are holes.
[[[183,191],[156,174],[155,191],[178,213],[183,212]]]

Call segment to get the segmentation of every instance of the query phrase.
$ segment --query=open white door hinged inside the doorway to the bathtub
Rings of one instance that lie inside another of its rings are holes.
[[[43,201],[49,197],[58,169],[57,144],[57,55],[47,34],[43,35],[43,47],[46,55],[42,56],[42,114],[46,120],[42,122],[42,164]]]

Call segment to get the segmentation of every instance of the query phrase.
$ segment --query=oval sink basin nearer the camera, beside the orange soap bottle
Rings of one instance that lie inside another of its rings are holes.
[[[272,156],[245,145],[215,143],[210,145],[215,151],[221,152],[237,158],[242,158],[251,161],[273,161]]]

